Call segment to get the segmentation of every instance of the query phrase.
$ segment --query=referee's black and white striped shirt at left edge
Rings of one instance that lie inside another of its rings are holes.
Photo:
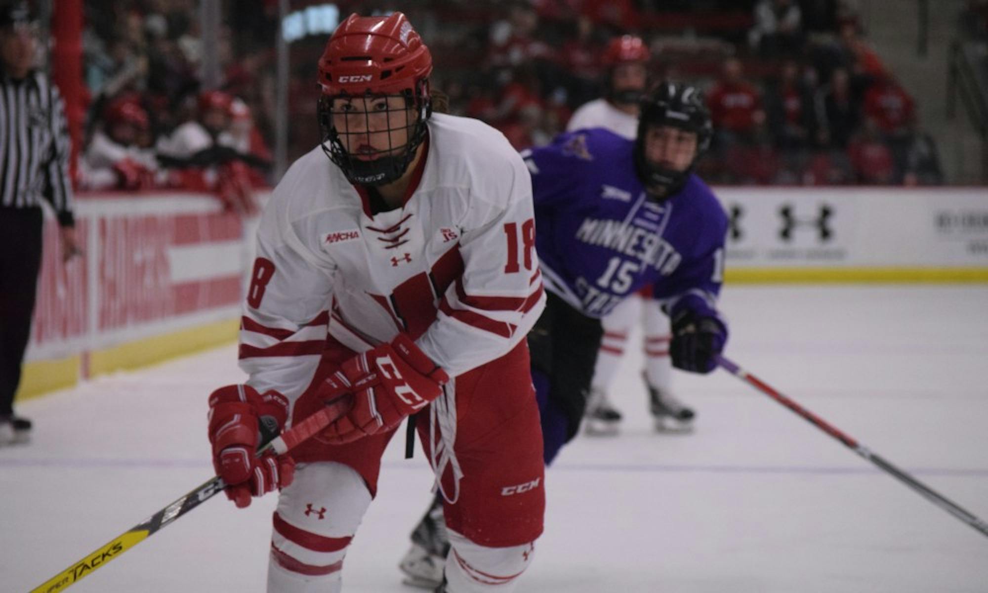
[[[40,71],[23,80],[0,70],[0,209],[51,205],[71,225],[70,140],[57,87]]]

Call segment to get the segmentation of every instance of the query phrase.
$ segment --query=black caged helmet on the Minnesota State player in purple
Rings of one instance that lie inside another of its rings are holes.
[[[645,132],[649,127],[678,127],[697,134],[697,154],[685,171],[675,171],[648,162],[645,158]],[[646,188],[662,188],[665,196],[682,189],[697,160],[710,147],[713,125],[710,112],[697,87],[677,82],[660,82],[642,100],[638,132],[634,141],[634,166]]]

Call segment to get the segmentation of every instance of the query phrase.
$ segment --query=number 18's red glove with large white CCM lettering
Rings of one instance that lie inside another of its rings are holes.
[[[401,420],[439,397],[450,381],[415,342],[398,334],[390,344],[381,344],[343,363],[327,379],[321,391],[351,391],[353,405],[343,417],[321,434],[328,443],[356,441],[396,427]]]

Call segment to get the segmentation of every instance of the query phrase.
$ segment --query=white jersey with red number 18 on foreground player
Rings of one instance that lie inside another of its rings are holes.
[[[497,130],[433,115],[421,178],[402,208],[366,197],[316,147],[275,189],[240,330],[259,391],[294,401],[327,332],[363,352],[407,332],[451,377],[500,358],[544,306],[532,185]]]

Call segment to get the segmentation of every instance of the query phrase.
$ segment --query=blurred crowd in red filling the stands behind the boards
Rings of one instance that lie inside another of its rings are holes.
[[[844,0],[336,4],[341,18],[408,14],[432,48],[433,83],[452,112],[498,127],[519,149],[548,142],[576,107],[603,94],[603,48],[630,33],[648,44],[655,80],[705,89],[716,135],[700,172],[713,183],[944,181],[913,99]],[[224,3],[218,93],[199,79],[198,5],[87,3],[84,187],[212,188],[249,211],[249,188],[274,181],[278,3]],[[319,142],[314,72],[325,39],[291,45],[289,159]]]

